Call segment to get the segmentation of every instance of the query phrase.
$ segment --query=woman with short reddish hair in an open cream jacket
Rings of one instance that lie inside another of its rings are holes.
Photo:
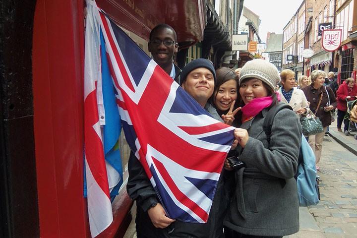
[[[298,116],[305,114],[308,104],[305,94],[300,89],[294,87],[295,72],[290,69],[284,69],[280,73],[280,78],[282,84],[279,89],[281,101],[289,104]]]

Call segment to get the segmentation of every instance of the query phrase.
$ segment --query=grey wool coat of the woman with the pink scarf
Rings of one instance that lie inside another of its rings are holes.
[[[292,110],[276,114],[270,143],[263,131],[268,112],[242,123],[249,139],[244,149],[237,147],[245,168],[236,172],[236,193],[224,225],[245,235],[286,236],[299,230],[297,157],[301,125]]]

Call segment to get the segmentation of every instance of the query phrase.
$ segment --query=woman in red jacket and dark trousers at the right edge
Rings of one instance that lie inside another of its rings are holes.
[[[347,105],[346,101],[351,101],[357,99],[357,86],[353,78],[346,79],[339,89],[337,90],[337,129],[342,131],[341,125],[342,120],[346,115]],[[348,125],[350,123],[349,119],[344,120],[344,132],[348,135]]]

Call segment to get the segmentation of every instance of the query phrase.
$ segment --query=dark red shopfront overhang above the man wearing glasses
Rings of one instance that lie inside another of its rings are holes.
[[[161,23],[172,26],[179,43],[192,45],[203,40],[206,24],[204,0],[97,0],[119,26],[149,40],[152,28]]]

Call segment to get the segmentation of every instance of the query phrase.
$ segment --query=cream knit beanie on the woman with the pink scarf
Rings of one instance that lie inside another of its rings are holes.
[[[280,75],[275,65],[261,59],[250,60],[244,64],[239,74],[239,85],[246,78],[260,79],[273,91],[276,91],[276,85],[280,82]]]

